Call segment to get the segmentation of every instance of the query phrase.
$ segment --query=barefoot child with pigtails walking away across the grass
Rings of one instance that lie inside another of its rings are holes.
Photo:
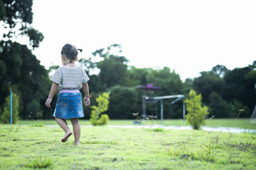
[[[81,134],[81,127],[79,125],[79,118],[84,117],[82,97],[79,89],[83,88],[85,97],[85,106],[90,104],[89,87],[87,81],[90,80],[82,67],[76,66],[77,50],[75,46],[66,44],[61,50],[61,60],[63,66],[59,67],[52,75],[53,81],[51,91],[45,102],[48,108],[51,106],[52,97],[56,90],[60,90],[58,101],[54,110],[53,117],[56,122],[65,131],[65,135],[61,142],[67,141],[68,137],[72,135],[65,119],[71,119],[74,132],[74,145],[80,145],[79,138]]]

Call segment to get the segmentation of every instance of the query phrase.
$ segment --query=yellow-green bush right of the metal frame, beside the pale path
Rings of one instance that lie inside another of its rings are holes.
[[[206,106],[202,108],[201,100],[201,94],[196,95],[194,90],[190,90],[189,99],[186,99],[185,101],[186,109],[188,111],[186,120],[193,129],[200,129],[200,126],[205,123],[205,117],[209,114]]]

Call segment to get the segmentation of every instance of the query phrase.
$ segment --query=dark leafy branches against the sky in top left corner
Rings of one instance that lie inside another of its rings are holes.
[[[41,32],[31,27],[33,22],[33,0],[2,0],[0,1],[0,20],[5,31],[3,45],[12,44],[17,36],[28,36],[29,45],[33,48],[39,46],[44,39]],[[10,41],[12,40],[12,41]]]

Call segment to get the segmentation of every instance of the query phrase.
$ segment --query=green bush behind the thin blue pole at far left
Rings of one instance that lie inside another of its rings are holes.
[[[0,122],[3,124],[10,124],[11,120],[11,101],[10,96],[6,97],[6,106],[4,106],[3,115],[0,117]],[[19,122],[19,97],[12,93],[12,123]]]

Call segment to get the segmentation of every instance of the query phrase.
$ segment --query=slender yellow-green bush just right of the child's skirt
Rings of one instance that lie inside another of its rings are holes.
[[[109,94],[110,92],[103,93],[102,96],[96,98],[98,106],[92,106],[92,113],[90,118],[92,125],[106,125],[108,123],[108,115],[101,113],[108,110]]]

